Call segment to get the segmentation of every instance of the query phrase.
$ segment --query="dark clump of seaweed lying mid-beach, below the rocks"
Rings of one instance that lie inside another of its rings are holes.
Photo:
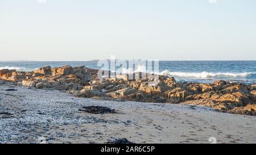
[[[114,113],[115,110],[108,107],[101,106],[88,106],[82,107],[79,111],[88,112],[90,114],[106,114],[106,113]]]

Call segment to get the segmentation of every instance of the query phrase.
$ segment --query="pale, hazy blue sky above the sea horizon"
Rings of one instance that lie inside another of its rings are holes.
[[[256,60],[255,0],[0,0],[0,61]]]

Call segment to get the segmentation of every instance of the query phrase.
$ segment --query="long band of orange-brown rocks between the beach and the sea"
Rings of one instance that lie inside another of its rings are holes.
[[[141,72],[98,79],[97,72],[97,69],[85,66],[46,66],[27,73],[3,69],[0,70],[0,78],[35,89],[67,91],[75,97],[190,104],[232,114],[255,115],[254,84],[221,80],[213,83],[180,83],[174,77],[167,76],[159,76],[155,82],[156,75]]]

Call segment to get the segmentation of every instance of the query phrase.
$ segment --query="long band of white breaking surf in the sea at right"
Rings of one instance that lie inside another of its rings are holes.
[[[192,77],[192,78],[212,78],[212,77],[247,77],[250,74],[255,74],[251,72],[245,73],[211,73],[211,72],[201,72],[201,73],[188,73],[188,72],[168,72],[164,70],[160,75],[174,76],[174,77]]]

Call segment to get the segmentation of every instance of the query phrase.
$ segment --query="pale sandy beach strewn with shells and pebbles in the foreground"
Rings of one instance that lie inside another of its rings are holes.
[[[16,91],[6,91],[15,89]],[[115,114],[88,114],[82,106],[105,106]],[[181,104],[114,102],[75,98],[50,89],[3,82],[0,143],[256,143],[256,117]]]

